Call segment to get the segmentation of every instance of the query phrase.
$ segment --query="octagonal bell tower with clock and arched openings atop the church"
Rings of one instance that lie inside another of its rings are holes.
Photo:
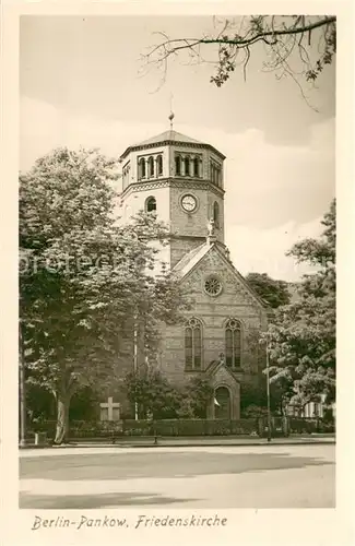
[[[206,240],[214,222],[217,244],[224,246],[225,156],[210,144],[170,129],[129,146],[122,164],[121,215],[155,212],[170,229],[164,261],[170,268]]]

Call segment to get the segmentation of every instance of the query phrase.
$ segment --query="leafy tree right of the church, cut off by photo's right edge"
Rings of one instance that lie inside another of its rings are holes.
[[[335,200],[322,225],[319,240],[305,239],[289,251],[318,271],[305,275],[297,301],[276,310],[265,336],[271,382],[298,407],[335,396]]]

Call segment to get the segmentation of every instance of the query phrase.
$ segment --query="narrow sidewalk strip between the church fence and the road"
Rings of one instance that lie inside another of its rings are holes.
[[[240,436],[210,436],[210,437],[135,437],[117,438],[115,443],[108,439],[73,439],[70,443],[62,446],[50,446],[27,443],[21,449],[66,449],[66,448],[188,448],[188,447],[218,447],[218,446],[310,446],[310,444],[335,444],[334,435],[301,435],[288,438],[240,437]]]

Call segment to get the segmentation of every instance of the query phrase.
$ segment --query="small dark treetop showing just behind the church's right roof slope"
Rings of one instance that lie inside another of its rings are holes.
[[[271,308],[289,304],[289,293],[285,281],[275,281],[267,273],[248,273],[246,281]]]

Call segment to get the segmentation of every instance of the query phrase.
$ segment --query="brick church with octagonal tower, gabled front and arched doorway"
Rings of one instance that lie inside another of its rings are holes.
[[[230,261],[225,246],[224,161],[211,144],[173,130],[129,146],[122,165],[122,218],[155,212],[170,229],[162,260],[191,295],[186,323],[165,325],[158,367],[174,384],[208,378],[208,418],[238,419],[240,390],[260,380],[256,336],[268,309]]]

